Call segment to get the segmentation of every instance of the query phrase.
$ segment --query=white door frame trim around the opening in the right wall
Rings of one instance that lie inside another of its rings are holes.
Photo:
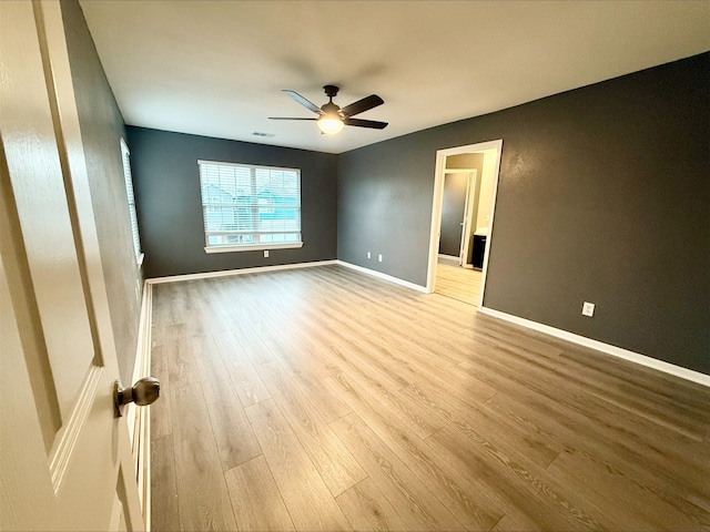
[[[436,288],[436,269],[438,259],[439,239],[442,237],[442,206],[444,203],[444,174],[446,171],[446,157],[449,155],[460,155],[463,153],[477,153],[487,150],[496,150],[496,163],[494,166],[493,197],[490,200],[490,221],[488,223],[488,236],[486,238],[486,250],[484,254],[484,268],[480,280],[480,299],[478,308],[483,307],[486,295],[486,277],[488,275],[488,256],[490,254],[490,243],[493,242],[493,229],[496,211],[496,197],[498,195],[498,174],[500,172],[500,155],[503,153],[503,139],[495,141],[479,142],[465,146],[437,150],[436,167],[434,174],[434,197],[432,200],[432,228],[429,232],[429,264],[427,267],[426,291],[430,294]],[[483,178],[483,175],[481,175]]]

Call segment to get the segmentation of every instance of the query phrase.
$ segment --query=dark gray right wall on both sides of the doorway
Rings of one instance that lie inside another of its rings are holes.
[[[338,258],[424,285],[436,151],[503,139],[485,305],[710,374],[708,86],[704,53],[345,153]]]

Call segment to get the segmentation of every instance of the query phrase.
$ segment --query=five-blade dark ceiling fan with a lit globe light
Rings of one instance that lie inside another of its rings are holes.
[[[377,94],[371,94],[367,98],[351,103],[344,108],[341,108],[333,103],[333,99],[337,95],[338,88],[335,85],[325,85],[323,88],[325,95],[328,96],[328,103],[318,108],[313,102],[310,102],[301,94],[294,91],[284,90],[288,96],[298,102],[304,108],[313,111],[318,115],[317,119],[297,119],[297,117],[282,117],[270,116],[271,120],[314,120],[318,124],[318,129],[327,134],[333,135],[339,132],[345,125],[354,125],[356,127],[369,127],[373,130],[384,130],[387,126],[387,122],[376,122],[374,120],[353,119],[356,114],[369,111],[377,105],[382,105],[384,100]]]

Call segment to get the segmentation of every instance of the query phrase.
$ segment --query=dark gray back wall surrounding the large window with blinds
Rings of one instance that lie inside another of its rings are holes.
[[[216,272],[336,258],[336,155],[128,127],[145,275]],[[197,160],[301,170],[303,247],[206,254]]]

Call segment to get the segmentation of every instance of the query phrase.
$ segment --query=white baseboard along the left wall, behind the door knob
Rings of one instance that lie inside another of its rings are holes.
[[[152,329],[153,289],[150,283],[143,283],[141,317],[138,326],[138,346],[131,382],[133,383],[151,375],[151,329]],[[125,409],[131,450],[135,464],[138,497],[143,512],[145,531],[151,530],[151,407],[136,408],[134,402]]]

